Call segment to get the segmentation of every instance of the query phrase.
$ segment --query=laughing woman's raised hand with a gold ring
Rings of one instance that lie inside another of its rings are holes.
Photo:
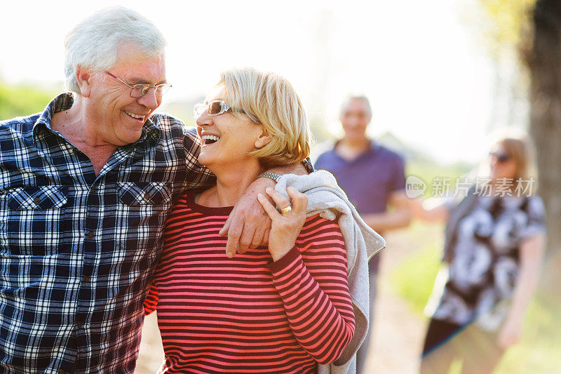
[[[294,187],[286,189],[290,201],[282,194],[276,192],[272,188],[266,189],[266,194],[271,196],[273,201],[280,209],[291,207],[286,213],[279,213],[263,194],[258,194],[257,199],[269,215],[273,223],[271,224],[271,232],[269,232],[269,252],[274,261],[283,257],[296,243],[296,238],[302,231],[304,221],[306,221],[306,207],[308,206],[308,198],[301,194]]]

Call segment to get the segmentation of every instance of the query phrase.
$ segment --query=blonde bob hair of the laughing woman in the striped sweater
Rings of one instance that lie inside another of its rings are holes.
[[[269,134],[271,141],[250,153],[262,166],[290,165],[309,156],[311,135],[306,112],[283,76],[250,67],[229,69],[220,74],[216,88],[224,88],[228,104],[242,109]],[[232,113],[243,116],[235,110]]]

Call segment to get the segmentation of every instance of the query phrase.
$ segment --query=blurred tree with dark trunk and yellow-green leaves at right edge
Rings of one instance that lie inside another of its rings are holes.
[[[561,248],[561,1],[477,0],[489,22],[482,35],[497,62],[520,62],[527,131],[537,150],[539,194],[547,207],[548,255]],[[553,260],[553,259],[552,259]],[[553,260],[561,264],[560,259]],[[555,282],[558,284],[557,282]]]

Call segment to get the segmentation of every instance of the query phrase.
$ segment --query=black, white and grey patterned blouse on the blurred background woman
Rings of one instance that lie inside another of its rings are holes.
[[[459,221],[452,260],[438,274],[433,319],[460,325],[477,321],[496,330],[510,307],[520,266],[520,244],[545,231],[539,196],[478,196]],[[430,313],[430,312],[429,312]]]

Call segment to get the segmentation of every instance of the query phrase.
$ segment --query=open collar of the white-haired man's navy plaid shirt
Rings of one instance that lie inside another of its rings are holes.
[[[33,125],[33,140],[35,142],[39,137],[39,131],[41,131],[41,129],[46,128],[48,131],[53,131],[53,128],[51,127],[53,114],[70,109],[74,104],[74,95],[75,94],[72,92],[65,92],[61,93],[53,100],[50,100]],[[136,141],[136,143],[147,140],[152,146],[154,146],[160,138],[161,128],[158,124],[152,121],[152,116],[150,116],[150,118],[144,123],[144,126],[142,126],[142,135],[140,135],[140,138]]]

